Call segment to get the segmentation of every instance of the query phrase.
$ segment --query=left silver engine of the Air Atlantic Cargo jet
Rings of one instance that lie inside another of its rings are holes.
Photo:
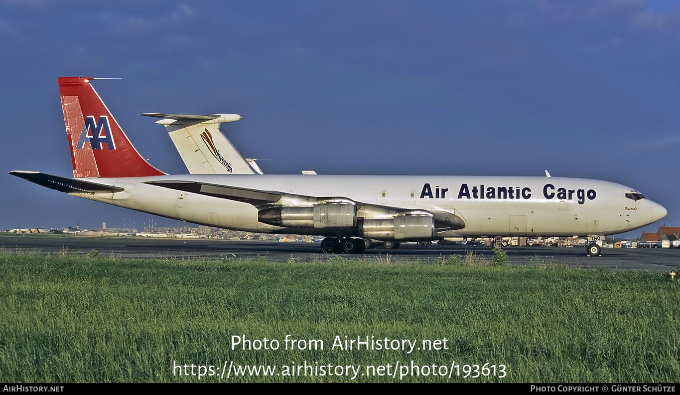
[[[258,211],[258,221],[282,227],[354,227],[354,204],[322,203],[311,207],[276,206]]]

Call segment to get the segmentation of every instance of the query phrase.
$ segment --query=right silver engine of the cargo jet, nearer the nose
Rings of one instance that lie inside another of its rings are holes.
[[[358,223],[359,235],[377,240],[431,238],[435,219],[428,215],[399,215],[390,219],[364,219]]]

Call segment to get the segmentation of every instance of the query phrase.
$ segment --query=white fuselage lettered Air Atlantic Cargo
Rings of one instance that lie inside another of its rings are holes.
[[[163,217],[248,232],[319,234],[313,228],[283,228],[258,222],[258,208],[248,203],[145,182],[197,181],[316,197],[347,197],[380,206],[443,210],[464,220],[463,229],[443,232],[439,237],[608,235],[634,230],[666,215],[662,206],[649,199],[626,197],[626,193],[632,191],[630,187],[585,178],[192,174],[91,180],[125,190],[73,195]]]

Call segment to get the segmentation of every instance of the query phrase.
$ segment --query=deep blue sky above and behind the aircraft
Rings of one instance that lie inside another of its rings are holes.
[[[56,78],[120,77],[95,89],[165,172],[186,168],[137,114],[233,112],[223,130],[267,173],[547,169],[639,189],[668,209],[656,230],[680,225],[679,33],[668,0],[5,0],[0,168],[71,175]],[[0,188],[3,229],[150,218]]]

